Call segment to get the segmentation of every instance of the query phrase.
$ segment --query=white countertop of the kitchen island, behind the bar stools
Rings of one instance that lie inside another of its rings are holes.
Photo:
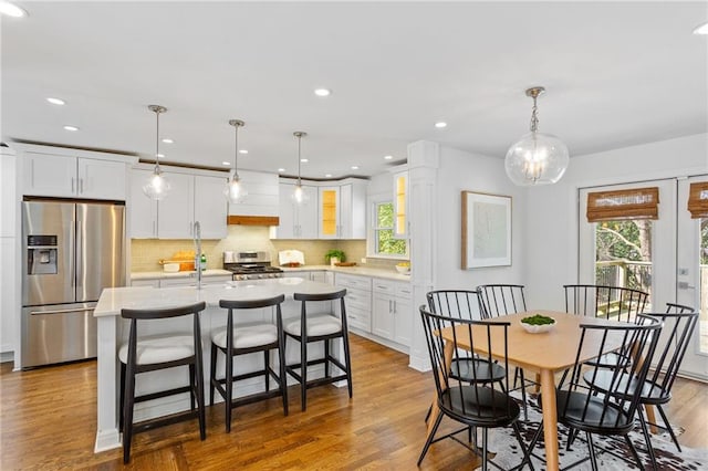
[[[270,280],[229,281],[223,284],[202,286],[152,287],[126,286],[103,290],[94,316],[121,315],[122,308],[164,308],[190,303],[206,302],[207,306],[218,307],[219,300],[260,300],[284,294],[292,300],[294,292],[309,294],[333,293],[337,287],[300,278],[280,278]]]

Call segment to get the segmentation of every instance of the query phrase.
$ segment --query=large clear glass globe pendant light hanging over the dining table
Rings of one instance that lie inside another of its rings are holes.
[[[544,92],[542,86],[527,90],[527,96],[533,98],[531,132],[509,147],[504,159],[507,175],[519,186],[555,184],[568,168],[568,146],[553,135],[538,132],[535,101]]]

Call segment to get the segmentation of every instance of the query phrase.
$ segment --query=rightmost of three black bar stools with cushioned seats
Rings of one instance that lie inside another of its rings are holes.
[[[300,318],[285,322],[285,341],[291,337],[300,342],[300,363],[288,365],[285,370],[290,376],[300,383],[302,410],[308,408],[308,389],[336,383],[346,379],[350,390],[350,399],[352,398],[352,360],[350,358],[350,339],[348,329],[346,327],[346,311],[344,308],[344,296],[346,290],[326,294],[305,294],[294,293],[295,301],[301,301]],[[308,316],[306,304],[315,301],[335,301],[340,300],[340,316],[333,312],[319,313]],[[302,328],[304,326],[304,328]],[[344,360],[346,365],[330,353],[330,341],[333,338],[342,338],[344,346]],[[316,359],[308,359],[308,344],[312,342],[324,343],[324,356]],[[324,364],[324,377],[317,379],[308,379],[308,366]],[[342,375],[330,376],[330,364],[333,364],[342,371]],[[300,370],[300,374],[296,373]]]

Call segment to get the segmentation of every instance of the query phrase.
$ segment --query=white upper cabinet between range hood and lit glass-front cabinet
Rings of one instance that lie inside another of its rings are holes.
[[[280,223],[275,229],[277,239],[317,238],[317,188],[303,185],[304,199],[296,203],[292,195],[294,184],[280,184]]]

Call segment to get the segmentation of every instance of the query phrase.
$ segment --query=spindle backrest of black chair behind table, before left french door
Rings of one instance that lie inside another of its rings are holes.
[[[648,293],[622,286],[564,284],[565,312],[571,314],[633,322],[644,312]]]

